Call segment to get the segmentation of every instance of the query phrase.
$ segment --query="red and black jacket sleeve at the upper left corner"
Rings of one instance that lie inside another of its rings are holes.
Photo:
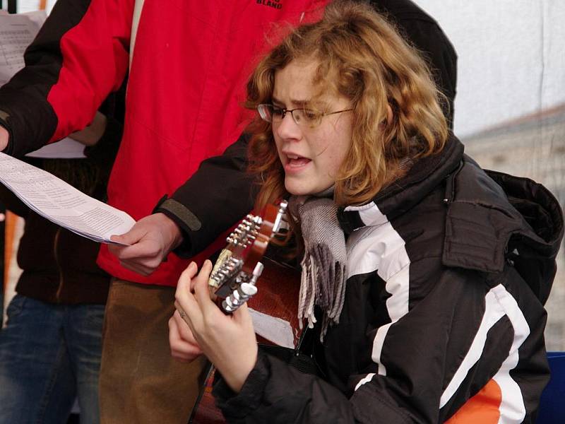
[[[129,63],[133,0],[59,0],[0,88],[5,153],[21,156],[87,126]]]

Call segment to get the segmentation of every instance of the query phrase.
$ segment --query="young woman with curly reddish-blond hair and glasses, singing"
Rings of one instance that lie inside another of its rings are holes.
[[[439,99],[417,52],[362,4],[328,6],[258,65],[256,207],[290,198],[297,313],[320,372],[258,349],[246,307],[222,314],[210,262],[191,264],[172,351],[215,364],[228,422],[535,419],[561,209],[539,184],[464,155]]]

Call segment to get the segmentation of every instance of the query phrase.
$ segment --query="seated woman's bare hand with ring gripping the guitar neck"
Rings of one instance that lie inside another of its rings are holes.
[[[169,320],[169,343],[175,358],[192,360],[203,353],[230,388],[239,392],[257,358],[253,322],[246,305],[232,314],[223,313],[210,299],[208,278],[212,263],[201,270],[193,262],[182,273],[177,285],[177,311]],[[183,311],[183,316],[179,314]],[[182,328],[183,322],[188,328]],[[190,333],[190,334],[189,334]]]

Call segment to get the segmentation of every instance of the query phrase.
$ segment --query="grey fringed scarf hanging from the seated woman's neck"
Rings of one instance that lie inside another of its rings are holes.
[[[323,311],[320,339],[330,324],[338,324],[345,297],[345,235],[338,221],[333,187],[315,196],[291,196],[289,209],[304,238],[298,319],[314,326],[314,306]]]

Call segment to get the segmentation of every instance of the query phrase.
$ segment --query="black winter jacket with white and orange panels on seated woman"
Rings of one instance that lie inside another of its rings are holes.
[[[482,170],[451,137],[371,203],[339,212],[347,289],[314,350],[326,378],[260,352],[230,423],[532,423],[549,379],[543,305],[561,208]]]

